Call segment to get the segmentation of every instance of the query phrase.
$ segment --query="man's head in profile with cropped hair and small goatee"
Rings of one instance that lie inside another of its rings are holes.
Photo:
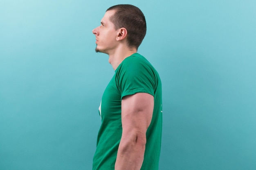
[[[107,9],[101,26],[92,33],[96,36],[96,52],[110,54],[121,41],[137,50],[146,35],[146,20],[141,10],[133,5],[115,5]]]

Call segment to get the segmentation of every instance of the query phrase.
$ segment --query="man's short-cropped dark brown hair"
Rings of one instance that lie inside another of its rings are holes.
[[[146,35],[146,20],[144,14],[138,7],[130,4],[119,4],[110,7],[107,11],[115,10],[110,17],[110,21],[115,25],[115,29],[126,28],[128,47],[138,49]]]

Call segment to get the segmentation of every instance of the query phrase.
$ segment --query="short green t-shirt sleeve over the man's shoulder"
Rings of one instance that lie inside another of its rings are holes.
[[[154,96],[155,76],[153,67],[137,57],[129,57],[121,63],[116,73],[117,88],[124,96],[148,93]]]

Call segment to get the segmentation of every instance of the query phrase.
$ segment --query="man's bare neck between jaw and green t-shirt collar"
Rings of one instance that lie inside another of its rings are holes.
[[[131,56],[132,54],[136,53],[136,48],[117,48],[115,52],[109,53],[108,62],[112,65],[113,69],[116,70],[119,64],[124,61],[127,57]]]

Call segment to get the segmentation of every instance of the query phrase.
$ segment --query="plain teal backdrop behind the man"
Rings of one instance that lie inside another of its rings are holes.
[[[114,74],[92,29],[146,16],[163,88],[159,170],[256,169],[255,0],[1,0],[0,170],[90,170]]]

